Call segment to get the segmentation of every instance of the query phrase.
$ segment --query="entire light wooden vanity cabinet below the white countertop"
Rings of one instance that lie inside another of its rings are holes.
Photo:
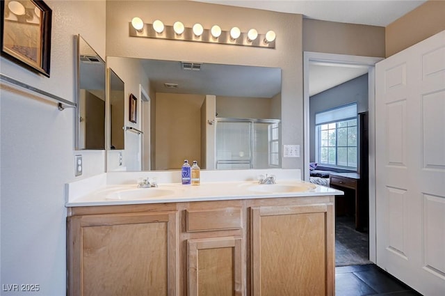
[[[68,295],[334,295],[334,196],[69,209]]]

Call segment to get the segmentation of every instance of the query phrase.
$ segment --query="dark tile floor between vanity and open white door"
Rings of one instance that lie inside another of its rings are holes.
[[[335,267],[336,296],[421,296],[377,265]]]

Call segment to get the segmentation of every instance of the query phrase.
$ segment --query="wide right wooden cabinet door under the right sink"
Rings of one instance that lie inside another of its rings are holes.
[[[252,295],[334,295],[333,205],[251,208]]]

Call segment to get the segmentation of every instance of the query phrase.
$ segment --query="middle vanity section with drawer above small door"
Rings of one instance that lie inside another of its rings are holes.
[[[183,234],[188,296],[245,295],[242,201],[188,203]]]

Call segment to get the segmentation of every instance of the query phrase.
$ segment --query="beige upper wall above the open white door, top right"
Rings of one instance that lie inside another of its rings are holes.
[[[429,0],[386,27],[386,56],[445,30],[445,1]]]

